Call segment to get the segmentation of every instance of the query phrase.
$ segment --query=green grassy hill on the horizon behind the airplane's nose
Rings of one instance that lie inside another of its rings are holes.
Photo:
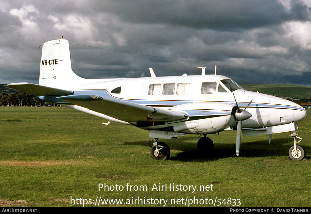
[[[311,97],[311,87],[304,85],[290,84],[241,84],[242,88],[248,91],[270,94],[274,96],[285,96],[292,98],[309,98]],[[273,88],[273,92],[272,92]]]

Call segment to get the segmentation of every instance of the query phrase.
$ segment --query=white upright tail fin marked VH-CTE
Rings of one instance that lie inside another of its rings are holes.
[[[39,85],[68,89],[83,80],[72,71],[68,40],[62,38],[42,45]]]

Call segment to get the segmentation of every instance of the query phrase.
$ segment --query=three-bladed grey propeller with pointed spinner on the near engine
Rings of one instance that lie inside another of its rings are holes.
[[[246,108],[243,110],[241,110],[239,108],[238,103],[236,102],[234,93],[232,92],[235,103],[236,103],[236,111],[234,114],[235,120],[238,121],[238,125],[237,125],[237,129],[236,129],[236,156],[239,156],[239,152],[240,152],[240,144],[241,144],[241,132],[242,132],[242,121],[247,120],[248,118],[250,118],[252,116],[251,113],[249,113],[248,111],[246,111],[246,108],[252,103],[253,100],[251,100],[248,105],[246,106]]]

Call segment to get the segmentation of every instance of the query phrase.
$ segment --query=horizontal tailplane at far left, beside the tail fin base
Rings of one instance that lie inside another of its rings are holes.
[[[11,89],[16,89],[19,91],[23,91],[35,96],[57,96],[57,95],[67,95],[72,94],[73,91],[63,90],[51,88],[43,85],[37,85],[32,83],[11,83],[5,85],[4,87],[8,87]]]

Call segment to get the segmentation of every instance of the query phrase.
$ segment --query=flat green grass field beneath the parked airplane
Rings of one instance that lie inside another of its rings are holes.
[[[0,112],[2,207],[81,207],[83,202],[91,207],[96,197],[123,199],[121,205],[100,207],[162,207],[166,199],[165,207],[311,206],[311,164],[287,160],[289,133],[273,135],[271,144],[267,135],[242,137],[240,157],[235,157],[235,131],[208,135],[215,146],[206,156],[197,152],[198,136],[186,135],[163,140],[171,158],[154,161],[148,132],[133,126],[102,125],[107,121],[65,107],[0,107]],[[310,115],[308,110],[297,131],[308,159]],[[99,184],[110,190],[99,191]],[[153,189],[159,184],[183,190]],[[197,189],[189,191],[189,185]],[[123,191],[116,190],[121,186]],[[138,197],[142,201],[133,204]],[[73,204],[77,198],[79,204]],[[198,204],[189,205],[190,199]]]

